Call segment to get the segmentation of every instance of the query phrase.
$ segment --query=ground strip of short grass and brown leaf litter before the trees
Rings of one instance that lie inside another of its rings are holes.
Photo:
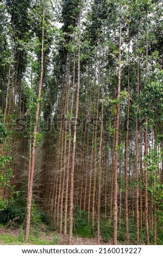
[[[103,243],[100,245],[109,245]],[[54,232],[39,231],[39,234],[33,233],[29,237],[29,242],[23,242],[23,233],[19,229],[0,226],[0,245],[67,245],[67,239],[63,236],[55,235]],[[73,237],[73,245],[97,245],[95,238]]]

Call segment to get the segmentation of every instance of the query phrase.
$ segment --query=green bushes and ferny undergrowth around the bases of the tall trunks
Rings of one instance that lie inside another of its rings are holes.
[[[157,227],[157,244],[163,244],[163,230],[162,219],[159,220],[161,223],[160,227]],[[128,220],[129,229],[129,240],[126,237],[126,226],[123,219],[121,223],[118,223],[118,242],[122,245],[136,245],[136,227],[134,220]],[[24,243],[24,229],[25,229],[25,210],[19,208],[16,204],[9,204],[6,209],[0,211],[0,228],[7,227],[8,229],[19,229],[18,237],[1,234],[0,240],[2,243],[11,244],[22,244]],[[67,223],[67,230],[69,230],[69,225]],[[100,236],[101,240],[105,243],[113,241],[113,222],[109,218],[102,217],[100,221]],[[53,237],[51,240],[44,239],[42,233],[48,236],[53,232]],[[9,230],[10,233],[10,230]],[[74,218],[73,218],[73,234],[74,236],[80,236],[83,238],[96,238],[97,236],[97,222],[95,220],[94,229],[92,228],[92,222],[88,223],[88,214],[85,211],[79,209],[78,206],[74,206]],[[139,230],[140,245],[144,245],[146,241],[145,227]],[[55,224],[51,225],[50,218],[45,212],[36,209],[35,204],[32,203],[31,209],[31,228],[29,242],[34,245],[57,245],[60,241],[60,237],[56,234]],[[153,245],[154,241],[154,231],[149,228],[149,242]]]

